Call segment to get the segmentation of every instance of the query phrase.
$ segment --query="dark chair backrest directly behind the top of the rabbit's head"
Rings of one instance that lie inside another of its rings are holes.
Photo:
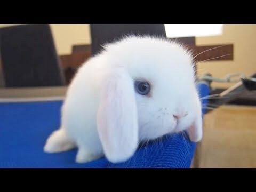
[[[91,24],[90,29],[92,55],[97,54],[103,44],[127,34],[166,37],[164,24]]]

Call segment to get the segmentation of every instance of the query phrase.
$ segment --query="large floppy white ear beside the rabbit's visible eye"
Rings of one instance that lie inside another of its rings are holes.
[[[103,75],[97,127],[110,162],[124,162],[134,154],[139,140],[137,106],[133,80],[123,68]]]

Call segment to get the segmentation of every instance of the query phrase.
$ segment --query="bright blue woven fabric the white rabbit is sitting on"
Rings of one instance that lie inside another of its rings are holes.
[[[204,83],[198,83],[198,89],[201,97],[209,94]],[[43,146],[50,133],[59,127],[61,105],[61,101],[0,103],[0,167],[189,167],[191,164],[196,143],[190,142],[185,133],[145,143],[125,163],[113,164],[101,158],[78,164],[77,149],[46,154]]]

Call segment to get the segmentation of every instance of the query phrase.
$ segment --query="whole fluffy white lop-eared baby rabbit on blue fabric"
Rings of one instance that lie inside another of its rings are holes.
[[[191,54],[181,44],[129,36],[104,46],[71,82],[61,127],[44,151],[78,147],[76,162],[124,162],[141,140],[186,130],[202,138],[201,102]]]

